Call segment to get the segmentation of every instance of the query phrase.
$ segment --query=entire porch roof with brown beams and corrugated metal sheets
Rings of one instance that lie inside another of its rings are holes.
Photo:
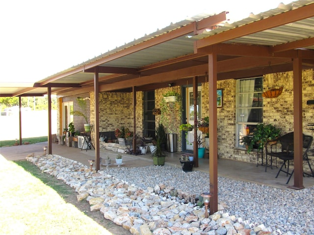
[[[226,13],[198,15],[108,51],[92,60],[53,74],[38,83],[7,87],[0,96],[52,94],[66,96],[93,90],[95,68],[99,91],[191,84],[208,72],[213,45],[218,52],[218,79],[291,71],[302,49],[304,68],[314,67],[314,2],[298,0],[228,24]],[[205,29],[211,29],[207,31]],[[196,33],[196,34],[195,34]],[[271,68],[270,68],[271,67]],[[203,78],[202,78],[203,77]]]

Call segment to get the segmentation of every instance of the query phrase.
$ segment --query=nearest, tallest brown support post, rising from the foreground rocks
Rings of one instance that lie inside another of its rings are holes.
[[[217,52],[209,54],[209,200],[210,214],[218,211]]]

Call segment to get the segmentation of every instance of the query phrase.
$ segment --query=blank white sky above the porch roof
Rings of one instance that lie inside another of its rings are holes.
[[[292,0],[3,0],[0,83],[36,82],[201,13],[229,23]]]

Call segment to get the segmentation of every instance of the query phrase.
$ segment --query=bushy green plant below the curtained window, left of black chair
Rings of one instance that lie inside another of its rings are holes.
[[[257,146],[257,151],[264,148],[267,141],[274,141],[280,136],[280,129],[272,124],[265,125],[258,123],[254,129],[252,141],[248,145],[247,152],[250,153],[254,146]]]

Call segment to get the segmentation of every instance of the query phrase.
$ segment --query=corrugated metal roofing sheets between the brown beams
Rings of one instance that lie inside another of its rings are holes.
[[[251,14],[249,17],[242,19],[240,21],[237,21],[234,23],[220,24],[219,27],[209,32],[204,31],[203,33],[199,35],[193,35],[193,33],[190,33],[188,35],[184,35],[179,38],[175,38],[170,41],[163,42],[156,46],[152,46],[152,47],[142,49],[140,51],[136,51],[134,53],[125,55],[121,58],[111,60],[109,62],[106,62],[105,64],[102,64],[101,66],[141,68],[143,66],[152,65],[157,62],[181,57],[184,55],[193,54],[194,42],[199,39],[210,37],[212,35],[216,35],[219,33],[223,33],[225,31],[232,30],[234,28],[241,27],[246,24],[251,24],[253,22],[260,21],[268,17],[282,14],[284,12],[302,7],[304,5],[313,4],[313,3],[314,1],[312,0],[298,0],[298,1],[293,1],[286,5],[279,4],[279,6],[275,9],[270,9],[266,12],[262,12],[257,15]],[[105,52],[104,54],[96,56],[93,59],[90,59],[81,64],[78,64],[77,66],[69,68],[65,71],[60,71],[38,82],[43,82],[55,76],[66,74],[68,71],[73,71],[74,69],[80,68],[84,65],[95,63],[99,61],[100,59],[113,55],[119,51],[123,51],[127,48],[131,48],[135,45],[141,44],[150,39],[156,38],[160,35],[167,34],[175,29],[183,27],[184,25],[191,24],[194,21],[200,21],[209,16],[212,16],[212,15],[200,14],[192,18],[185,19],[181,22],[170,24],[169,26],[163,29],[158,29],[154,33],[145,35],[139,39],[135,39],[134,41],[127,43],[121,47],[117,47],[113,50]],[[275,46],[275,45],[285,44],[288,42],[293,42],[293,41],[313,38],[313,37],[314,37],[314,17],[309,18],[309,19],[304,19],[298,22],[293,22],[290,24],[274,27],[272,29],[253,33],[247,36],[239,37],[233,40],[226,41],[225,43],[229,43],[229,44],[241,43],[241,44],[248,44],[248,45]],[[314,45],[308,46],[306,48],[314,49]],[[105,75],[110,75],[110,74],[101,74],[100,77],[105,76]],[[92,73],[78,72],[69,76],[62,77],[53,82],[55,83],[82,83],[82,82],[93,80],[93,76],[94,75]],[[4,93],[4,92],[9,93],[8,91],[1,88],[1,93]]]

